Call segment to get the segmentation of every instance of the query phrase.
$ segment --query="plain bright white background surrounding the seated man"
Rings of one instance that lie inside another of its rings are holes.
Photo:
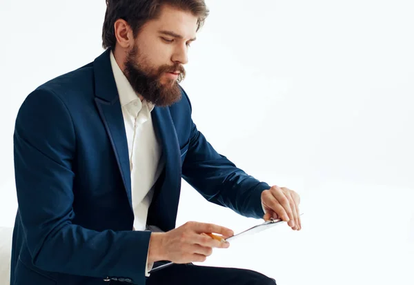
[[[286,224],[208,266],[277,284],[414,284],[412,1],[210,0],[183,82],[199,130],[247,173],[302,197]],[[0,226],[17,210],[12,133],[23,99],[103,52],[104,1],[1,0]],[[258,224],[183,185],[177,225]]]

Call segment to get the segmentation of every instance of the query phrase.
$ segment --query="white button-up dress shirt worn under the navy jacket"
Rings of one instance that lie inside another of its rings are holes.
[[[152,126],[151,111],[154,105],[139,99],[124,72],[119,68],[112,51],[110,63],[117,84],[128,141],[134,228],[146,230],[148,208],[154,194],[153,186],[164,168],[164,162],[160,161],[161,144]],[[152,264],[148,265],[146,276],[149,276],[148,270],[152,268]]]

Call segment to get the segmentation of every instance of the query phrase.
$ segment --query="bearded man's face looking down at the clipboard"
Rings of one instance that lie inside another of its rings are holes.
[[[132,88],[157,106],[181,99],[178,83],[184,79],[188,46],[195,40],[197,17],[163,6],[159,19],[139,31],[126,57],[125,74]]]

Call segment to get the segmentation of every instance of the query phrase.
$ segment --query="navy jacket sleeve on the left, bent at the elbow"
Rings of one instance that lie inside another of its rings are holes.
[[[19,213],[34,266],[144,284],[150,232],[72,224],[75,128],[60,97],[38,89],[23,102],[14,128]]]

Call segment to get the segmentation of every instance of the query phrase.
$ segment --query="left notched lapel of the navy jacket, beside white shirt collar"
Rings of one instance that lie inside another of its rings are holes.
[[[95,72],[95,102],[106,132],[108,132],[132,210],[128,141],[126,140],[124,117],[122,116],[117,85],[110,65],[109,49],[95,59],[93,68]]]

